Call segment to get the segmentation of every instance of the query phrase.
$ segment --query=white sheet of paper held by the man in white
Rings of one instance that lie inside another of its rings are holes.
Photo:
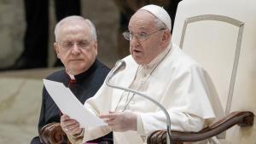
[[[43,81],[45,89],[61,109],[61,112],[67,114],[70,118],[76,119],[81,128],[107,125],[101,118],[88,111],[64,84],[48,79],[43,79]]]

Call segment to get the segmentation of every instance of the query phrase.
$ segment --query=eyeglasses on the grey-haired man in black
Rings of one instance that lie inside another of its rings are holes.
[[[61,48],[63,49],[72,49],[75,44],[79,49],[87,49],[88,46],[90,45],[90,42],[91,41],[81,40],[78,42],[67,41],[67,42],[57,42],[57,43],[59,43],[61,45]]]

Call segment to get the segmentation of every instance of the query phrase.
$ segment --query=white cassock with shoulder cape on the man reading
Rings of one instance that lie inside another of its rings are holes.
[[[147,66],[137,65],[131,55],[124,60],[125,70],[118,72],[110,83],[137,89],[159,101],[170,114],[171,130],[199,131],[212,123],[216,115],[222,114],[216,113],[222,109],[213,110],[212,101],[218,95],[207,72],[177,46],[170,44]],[[137,131],[113,132],[115,144],[143,144],[154,130],[166,130],[166,116],[159,107],[140,95],[112,89],[106,84],[84,103],[84,107],[97,116],[124,110],[138,114]],[[83,142],[110,131],[107,126],[84,129]],[[68,137],[73,143],[78,142]]]

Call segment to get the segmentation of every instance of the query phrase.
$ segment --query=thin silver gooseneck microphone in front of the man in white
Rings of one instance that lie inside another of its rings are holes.
[[[168,136],[166,136],[166,139],[167,139],[166,141],[167,141],[167,144],[171,144],[172,143],[172,138],[171,138],[171,118],[170,118],[169,113],[166,111],[165,107],[163,107],[158,101],[155,101],[154,99],[152,99],[148,95],[144,95],[143,93],[140,93],[137,90],[129,89],[129,88],[124,88],[124,87],[120,87],[120,86],[113,85],[113,84],[109,83],[110,79],[113,78],[113,76],[117,72],[123,71],[125,69],[125,67],[126,67],[125,60],[118,60],[115,63],[115,66],[113,67],[113,69],[109,72],[108,77],[106,78],[106,82],[105,83],[108,85],[108,87],[111,87],[113,89],[121,89],[121,90],[125,90],[125,91],[131,92],[131,93],[136,94],[136,95],[143,96],[148,101],[153,102],[157,107],[160,107],[160,109],[166,115],[167,134],[168,134]]]

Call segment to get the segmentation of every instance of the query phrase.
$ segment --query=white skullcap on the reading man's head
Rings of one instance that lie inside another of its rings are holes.
[[[141,8],[143,10],[147,10],[149,13],[154,14],[159,20],[163,21],[163,23],[169,28],[171,31],[172,29],[172,20],[170,15],[166,12],[165,9],[161,8],[160,6],[149,4]]]

